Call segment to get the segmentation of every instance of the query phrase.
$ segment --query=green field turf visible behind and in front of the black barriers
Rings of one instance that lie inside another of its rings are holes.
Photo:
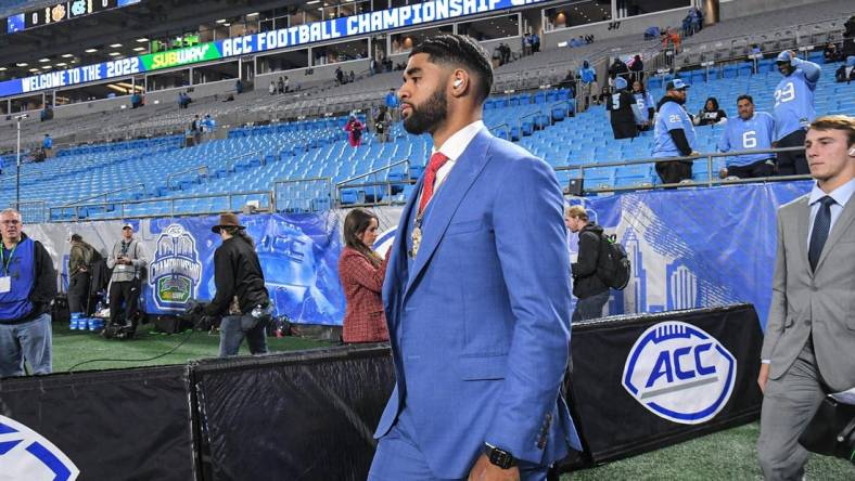
[[[69,330],[67,325],[53,325],[53,370],[68,370],[74,364],[90,359],[142,360],[162,354],[184,339],[183,334],[164,335],[153,332],[146,324],[140,327],[137,338],[130,341],[106,340],[101,336]],[[296,337],[268,338],[268,349],[292,351],[332,346],[331,342]],[[155,361],[90,363],[77,370],[114,367],[183,364],[190,360],[215,358],[219,337],[195,333],[178,350]],[[241,354],[248,354],[246,343]],[[612,480],[762,480],[757,465],[757,422],[716,432],[703,438],[664,447],[652,453],[610,463],[562,476],[562,481]],[[808,481],[855,481],[855,467],[841,459],[814,455],[807,465]]]

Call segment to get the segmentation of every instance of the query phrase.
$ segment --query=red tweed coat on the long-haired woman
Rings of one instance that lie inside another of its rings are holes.
[[[374,268],[358,250],[345,247],[339,258],[339,278],[347,302],[344,314],[345,342],[380,342],[388,340],[386,315],[383,313],[383,277],[386,260]]]

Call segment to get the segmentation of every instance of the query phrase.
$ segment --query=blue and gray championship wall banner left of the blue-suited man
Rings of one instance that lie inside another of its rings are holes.
[[[400,208],[377,209],[380,230],[395,225]],[[346,210],[311,214],[241,216],[241,223],[255,239],[275,315],[286,315],[301,324],[341,325],[344,291],[339,281],[342,251],[341,225]],[[210,226],[217,216],[132,220],[133,236],[148,259],[142,282],[141,309],[148,314],[183,312],[190,299],[210,300],[214,284],[214,252],[220,245]],[[26,219],[24,219],[26,222]],[[24,232],[44,244],[67,286],[68,238],[80,234],[104,258],[122,242],[122,221],[44,223],[25,225]],[[394,236],[378,239],[387,248]],[[385,244],[383,244],[385,242]],[[65,290],[65,288],[63,288]]]

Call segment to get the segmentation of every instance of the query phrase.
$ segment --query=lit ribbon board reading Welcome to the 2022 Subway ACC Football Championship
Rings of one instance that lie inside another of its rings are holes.
[[[0,82],[0,98],[412,27],[547,0],[433,0]]]

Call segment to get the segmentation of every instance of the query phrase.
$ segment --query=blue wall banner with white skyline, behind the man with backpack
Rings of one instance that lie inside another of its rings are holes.
[[[777,210],[812,185],[773,182],[583,199],[589,217],[617,235],[633,263],[629,284],[612,290],[608,313],[750,302],[765,326]],[[570,243],[575,259],[577,236]]]

